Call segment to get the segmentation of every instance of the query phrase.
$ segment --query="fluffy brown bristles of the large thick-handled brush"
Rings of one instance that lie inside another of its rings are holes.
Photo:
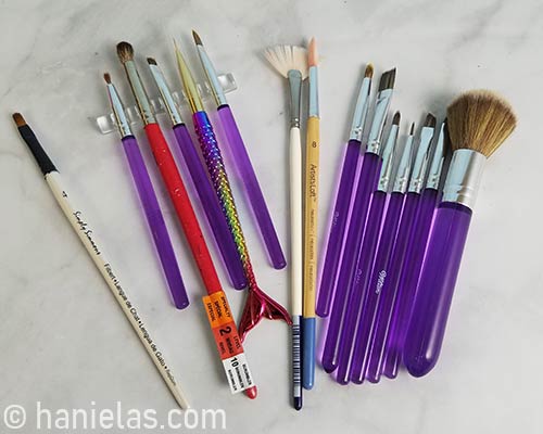
[[[446,111],[453,151],[469,149],[490,157],[514,131],[517,120],[509,103],[489,90],[459,95]]]

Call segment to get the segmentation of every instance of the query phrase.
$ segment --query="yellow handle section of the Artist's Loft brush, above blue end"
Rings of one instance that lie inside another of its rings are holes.
[[[318,152],[320,146],[319,118],[307,119],[304,186],[304,318],[315,317],[317,285],[317,214],[318,214]]]

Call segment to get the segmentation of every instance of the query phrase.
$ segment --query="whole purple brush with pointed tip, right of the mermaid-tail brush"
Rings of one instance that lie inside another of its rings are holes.
[[[285,254],[282,253],[281,245],[279,244],[279,239],[277,237],[274,222],[272,221],[266,201],[264,200],[264,194],[262,193],[258,179],[256,178],[253,165],[251,164],[251,158],[249,157],[245,144],[241,138],[238,124],[236,123],[233,113],[228,104],[228,101],[226,100],[223,86],[220,86],[220,82],[218,81],[217,73],[215,72],[215,67],[213,66],[207,52],[205,51],[202,39],[200,39],[200,36],[194,30],[192,30],[192,37],[194,38],[198,55],[200,56],[202,67],[207,76],[213,97],[217,104],[217,113],[225,131],[226,140],[230,145],[233,162],[245,188],[249,204],[253,209],[253,214],[261,230],[269,258],[274,268],[285,268],[287,260],[285,259]]]

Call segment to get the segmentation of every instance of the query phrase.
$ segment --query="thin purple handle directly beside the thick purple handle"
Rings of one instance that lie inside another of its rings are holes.
[[[432,225],[433,213],[438,205],[438,190],[426,189],[420,196],[416,222],[411,232],[409,243],[397,288],[397,298],[392,316],[392,326],[387,342],[383,374],[389,379],[397,375],[405,333],[409,326],[409,317],[415,302],[418,277],[425,259],[428,235]]]

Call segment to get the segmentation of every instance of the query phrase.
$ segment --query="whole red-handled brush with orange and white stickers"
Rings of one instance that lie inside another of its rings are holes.
[[[226,302],[226,295],[224,295],[223,289],[220,286],[220,281],[218,280],[217,271],[215,266],[213,265],[213,260],[211,258],[210,251],[205,243],[205,240],[202,234],[202,230],[200,229],[200,225],[197,220],[194,209],[192,208],[192,204],[190,203],[190,199],[187,194],[187,190],[185,189],[185,184],[182,182],[181,176],[179,175],[179,170],[175,164],[174,157],[164,139],[162,130],[156,124],[154,115],[150,112],[149,100],[147,99],[147,94],[143,89],[143,85],[139,78],[138,72],[136,69],[136,64],[132,60],[134,50],[128,42],[121,42],[117,44],[117,54],[125,66],[128,81],[130,82],[130,87],[136,97],[136,101],[138,107],[140,108],[141,118],[144,122],[144,130],[146,135],[149,139],[149,144],[151,145],[151,150],[153,152],[154,159],[159,169],[161,171],[162,179],[164,184],[167,188],[169,197],[174,204],[177,217],[181,222],[185,235],[189,242],[190,248],[192,251],[192,255],[197,261],[198,269],[200,271],[200,276],[204,282],[205,289],[210,296],[213,296],[223,301],[226,306],[226,309],[229,312],[229,308]],[[148,107],[149,106],[149,112]],[[215,294],[216,293],[216,294]],[[204,298],[204,304],[213,307],[215,303],[213,301]],[[219,329],[225,322],[228,322],[228,328],[225,327],[227,332],[218,332],[214,333],[217,348],[223,359],[223,366],[225,368],[228,383],[230,385],[230,391],[232,393],[241,392],[245,390],[247,395],[250,398],[256,397],[256,386],[254,386],[251,371],[249,370],[247,360],[242,353],[242,347],[239,344],[239,336],[236,328],[231,326],[230,317],[222,317],[222,322],[216,318],[216,316],[211,316],[210,310],[206,308],[209,314],[209,319],[212,328]],[[226,315],[223,312],[223,315]],[[217,337],[218,334],[218,337]],[[225,339],[229,342],[219,341],[220,339]],[[240,348],[241,353],[238,354],[237,350],[225,352],[225,348]],[[242,368],[242,371],[240,369]]]

